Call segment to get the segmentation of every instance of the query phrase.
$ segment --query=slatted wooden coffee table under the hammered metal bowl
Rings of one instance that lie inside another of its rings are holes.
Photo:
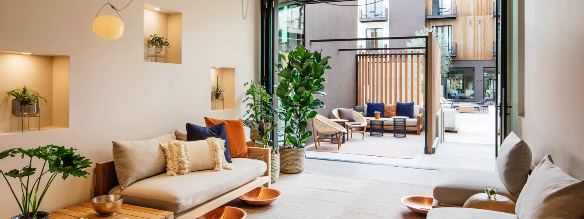
[[[128,219],[173,219],[174,213],[171,211],[156,210],[147,207],[132,206],[130,204],[122,204],[119,211],[114,215],[102,216],[96,213],[91,206],[91,201],[85,201],[74,206],[69,206],[56,210],[50,213],[51,218],[54,219],[79,219],[79,218],[92,218],[92,219],[115,219],[115,218],[128,218]]]

